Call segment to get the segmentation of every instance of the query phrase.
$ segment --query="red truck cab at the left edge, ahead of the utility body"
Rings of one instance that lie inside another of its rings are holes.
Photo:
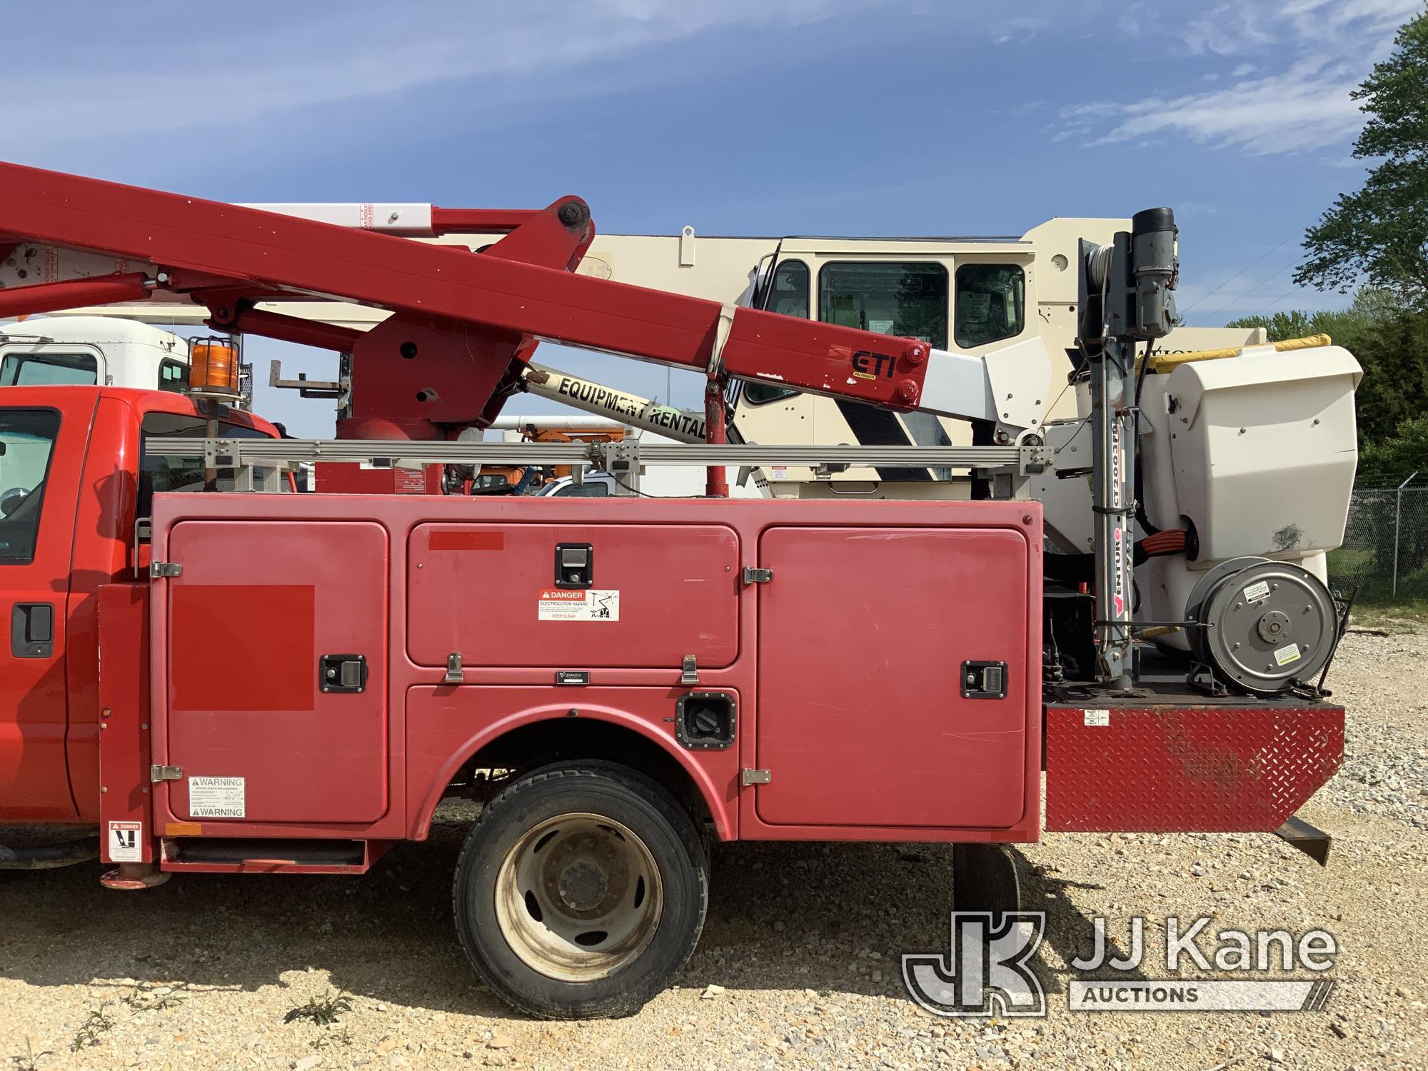
[[[7,338],[4,381],[111,374],[103,347],[37,348],[44,346],[11,348]],[[154,376],[164,360],[154,354]],[[186,360],[183,368],[187,374]],[[204,434],[276,438],[278,431],[243,410],[171,390],[93,378],[0,390],[0,614],[10,624],[0,653],[0,825],[97,820],[97,591],[147,570],[144,521],[154,493],[231,486],[221,471],[210,480],[200,458],[151,457],[143,447],[147,436]],[[271,471],[256,481],[290,487]]]

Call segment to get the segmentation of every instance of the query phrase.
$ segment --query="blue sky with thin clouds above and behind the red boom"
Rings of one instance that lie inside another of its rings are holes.
[[[1362,180],[1349,91],[1422,0],[26,4],[0,156],[233,201],[540,207],[603,231],[1014,234],[1170,204],[1180,306],[1337,296],[1298,243]],[[63,47],[56,47],[63,41]],[[328,374],[326,354],[253,340]],[[664,370],[544,358],[664,394]],[[674,401],[697,404],[677,377]],[[321,434],[326,403],[258,397]],[[548,407],[513,403],[521,411]]]

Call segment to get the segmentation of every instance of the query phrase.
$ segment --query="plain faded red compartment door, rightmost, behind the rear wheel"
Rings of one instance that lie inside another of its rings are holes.
[[[1027,803],[1028,544],[1004,528],[770,528],[760,820],[1007,827]],[[962,698],[964,660],[1005,698]]]

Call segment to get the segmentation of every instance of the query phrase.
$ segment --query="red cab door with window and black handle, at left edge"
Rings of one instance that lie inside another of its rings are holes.
[[[66,598],[96,393],[0,393],[0,821],[74,821]]]

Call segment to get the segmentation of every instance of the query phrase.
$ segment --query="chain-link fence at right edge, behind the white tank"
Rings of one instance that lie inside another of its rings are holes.
[[[1428,600],[1428,487],[1355,488],[1329,583],[1365,603]]]

